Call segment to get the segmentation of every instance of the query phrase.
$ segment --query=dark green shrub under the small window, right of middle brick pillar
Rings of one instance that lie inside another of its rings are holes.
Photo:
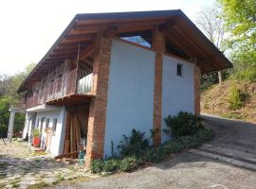
[[[192,135],[196,131],[204,129],[200,117],[190,112],[179,112],[177,116],[168,115],[164,120],[168,127],[168,129],[164,129],[164,131],[174,136],[174,138]]]

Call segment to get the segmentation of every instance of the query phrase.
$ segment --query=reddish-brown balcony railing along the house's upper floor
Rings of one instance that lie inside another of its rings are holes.
[[[70,94],[91,94],[92,90],[93,74],[75,69],[48,83],[43,90],[27,98],[27,109]]]

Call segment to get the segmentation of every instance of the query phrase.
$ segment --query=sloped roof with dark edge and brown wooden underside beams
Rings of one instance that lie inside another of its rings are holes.
[[[164,26],[168,42],[191,58],[196,58],[203,72],[232,66],[180,9],[77,14],[46,56],[30,72],[18,92],[26,90],[28,83],[46,76],[49,69],[56,67],[57,61],[76,58],[78,49],[82,52],[89,48],[101,30],[115,27],[121,34],[146,31],[155,26]]]

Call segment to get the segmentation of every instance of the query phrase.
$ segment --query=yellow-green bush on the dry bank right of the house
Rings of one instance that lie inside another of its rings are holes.
[[[232,85],[229,91],[229,108],[233,111],[240,109],[245,98],[246,94],[238,89],[236,85]]]

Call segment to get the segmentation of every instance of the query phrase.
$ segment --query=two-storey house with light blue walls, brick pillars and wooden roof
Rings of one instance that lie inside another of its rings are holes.
[[[179,9],[78,14],[18,92],[24,136],[40,129],[47,151],[86,149],[86,166],[109,157],[132,129],[164,129],[163,118],[200,112],[200,73],[229,60]],[[163,132],[152,143],[167,139]]]

